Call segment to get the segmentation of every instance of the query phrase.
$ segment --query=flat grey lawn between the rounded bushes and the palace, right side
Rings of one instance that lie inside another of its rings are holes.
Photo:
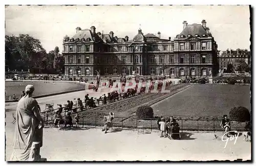
[[[194,85],[152,105],[155,116],[223,116],[234,106],[250,106],[250,86]]]

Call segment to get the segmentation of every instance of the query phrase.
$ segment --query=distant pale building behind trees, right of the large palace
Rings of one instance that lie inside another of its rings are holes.
[[[245,62],[250,66],[251,52],[247,49],[227,49],[226,51],[222,51],[222,54],[218,56],[220,70],[223,71],[224,69],[227,69],[227,65],[233,65],[237,59],[244,59]]]

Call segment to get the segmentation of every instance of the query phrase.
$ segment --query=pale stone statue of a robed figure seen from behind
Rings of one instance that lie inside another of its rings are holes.
[[[17,104],[11,161],[40,160],[44,120],[39,114],[37,101],[32,98],[33,92],[34,87],[28,85],[25,89],[26,95]]]

